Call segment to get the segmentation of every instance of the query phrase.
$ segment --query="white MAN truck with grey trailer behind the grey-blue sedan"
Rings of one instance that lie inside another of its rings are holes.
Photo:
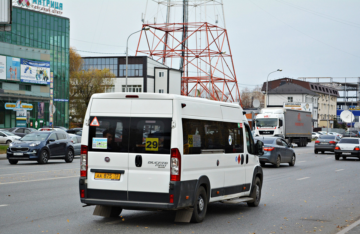
[[[256,116],[255,135],[282,137],[289,144],[306,146],[311,141],[311,113],[307,111],[268,107]]]

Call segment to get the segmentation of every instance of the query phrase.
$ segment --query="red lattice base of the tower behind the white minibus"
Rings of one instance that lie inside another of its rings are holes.
[[[182,95],[241,105],[226,29],[210,23],[143,24],[143,27],[150,29],[141,31],[136,55],[147,54],[171,68],[179,68],[180,64]],[[147,48],[140,50],[139,45]]]

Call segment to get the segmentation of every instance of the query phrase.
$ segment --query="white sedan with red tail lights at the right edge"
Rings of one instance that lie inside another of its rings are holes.
[[[343,137],[335,147],[335,159],[357,157],[360,159],[360,138]]]

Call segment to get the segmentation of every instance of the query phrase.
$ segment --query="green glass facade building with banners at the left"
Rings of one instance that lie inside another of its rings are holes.
[[[11,31],[0,32],[0,56],[50,62],[50,84],[0,79],[0,128],[16,127],[16,111],[4,104],[17,100],[33,105],[28,127],[49,124],[51,102],[56,108],[53,124],[69,127],[69,19],[13,6]]]

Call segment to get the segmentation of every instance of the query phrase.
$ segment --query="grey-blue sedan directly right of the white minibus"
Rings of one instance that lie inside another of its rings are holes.
[[[261,165],[271,163],[275,168],[279,168],[280,163],[295,165],[295,152],[292,144],[288,144],[282,137],[254,137],[255,141],[264,142],[264,155],[259,156]]]

